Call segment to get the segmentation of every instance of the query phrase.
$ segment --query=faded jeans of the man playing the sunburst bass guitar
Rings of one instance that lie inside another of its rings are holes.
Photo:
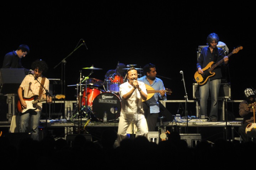
[[[209,91],[211,95],[211,109],[209,118],[218,119],[218,96],[220,88],[220,79],[208,80],[206,84],[199,87],[200,93],[200,115],[207,116],[207,100],[209,97]]]

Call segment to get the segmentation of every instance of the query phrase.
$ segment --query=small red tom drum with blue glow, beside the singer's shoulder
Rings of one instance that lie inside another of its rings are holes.
[[[108,85],[108,90],[113,93],[119,93],[120,84],[124,83],[124,78],[120,74],[111,74],[108,78],[110,80],[110,84]]]

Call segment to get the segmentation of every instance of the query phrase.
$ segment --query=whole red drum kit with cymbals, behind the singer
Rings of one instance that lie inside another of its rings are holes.
[[[118,62],[119,63],[119,62]],[[135,64],[129,65],[131,67],[136,66]],[[102,68],[86,67],[82,69],[91,70],[102,70]],[[129,68],[124,68],[129,69]],[[140,68],[136,68],[140,69]],[[90,76],[89,75],[89,76]],[[81,75],[80,75],[81,76]],[[79,97],[78,113],[70,115],[70,118],[75,119],[75,115],[79,115],[82,118],[88,118],[91,121],[103,121],[103,114],[107,113],[107,121],[119,120],[121,112],[121,98],[119,95],[119,86],[124,83],[125,78],[118,73],[111,74],[105,81],[96,78],[85,77],[84,80],[80,78],[80,84],[68,85],[68,86],[80,86],[80,92],[82,94]],[[82,80],[82,81],[81,81]],[[79,88],[77,88],[78,90]],[[77,94],[77,96],[79,96]]]

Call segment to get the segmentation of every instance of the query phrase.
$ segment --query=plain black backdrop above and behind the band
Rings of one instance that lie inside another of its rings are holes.
[[[104,81],[107,70],[115,69],[118,62],[137,64],[137,68],[155,64],[158,75],[169,78],[161,78],[173,91],[167,100],[184,100],[182,70],[192,100],[198,46],[206,45],[213,32],[229,52],[243,46],[229,58],[231,99],[243,100],[246,88],[256,88],[255,9],[250,3],[22,1],[5,2],[0,14],[0,65],[7,52],[27,44],[31,52],[22,58],[23,67],[30,69],[38,58],[46,61],[47,78],[62,79],[63,83],[65,78],[66,100],[76,100],[75,86],[68,85],[79,82],[80,71],[84,76],[91,72],[82,68],[102,68],[94,70],[90,78]],[[88,50],[82,45],[74,51],[81,45],[80,39]],[[56,91],[63,94],[63,88],[60,85]]]

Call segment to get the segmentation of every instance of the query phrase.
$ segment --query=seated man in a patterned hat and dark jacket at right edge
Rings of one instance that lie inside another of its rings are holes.
[[[243,117],[242,126],[239,127],[238,133],[242,140],[247,142],[247,135],[245,133],[246,126],[249,123],[254,123],[254,109],[256,107],[255,94],[252,89],[245,89],[244,91],[246,101],[239,104],[239,115]]]

